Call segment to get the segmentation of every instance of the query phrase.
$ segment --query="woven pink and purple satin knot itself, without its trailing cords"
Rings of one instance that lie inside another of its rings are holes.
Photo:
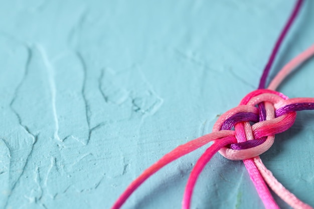
[[[221,148],[219,153],[230,160],[244,160],[267,151],[275,134],[289,129],[295,121],[295,111],[281,108],[287,100],[288,97],[282,93],[268,89],[247,94],[239,106],[222,114],[214,125],[213,132],[234,127],[237,141]]]

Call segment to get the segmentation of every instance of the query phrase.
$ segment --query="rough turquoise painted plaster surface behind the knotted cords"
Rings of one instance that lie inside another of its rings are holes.
[[[257,87],[293,4],[1,1],[0,208],[109,208],[141,171],[211,132]],[[306,1],[272,77],[314,42],[313,10]],[[279,91],[313,97],[313,68],[307,62]],[[313,116],[299,113],[261,156],[312,206]],[[205,149],[152,176],[123,208],[180,208]],[[242,162],[219,154],[192,205],[263,208]]]

